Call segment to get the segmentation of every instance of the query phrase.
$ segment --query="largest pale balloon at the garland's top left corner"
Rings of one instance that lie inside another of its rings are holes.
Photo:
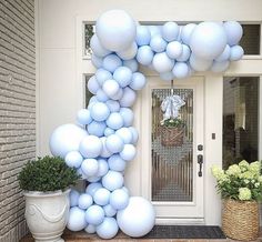
[[[128,49],[135,39],[137,27],[133,19],[123,10],[102,13],[95,24],[102,46],[111,51]]]

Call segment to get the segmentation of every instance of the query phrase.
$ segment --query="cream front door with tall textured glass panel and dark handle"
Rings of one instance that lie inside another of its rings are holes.
[[[171,83],[149,77],[142,91],[142,195],[152,201],[159,224],[203,223],[203,78],[174,81],[173,88],[185,103],[182,134],[161,125]]]

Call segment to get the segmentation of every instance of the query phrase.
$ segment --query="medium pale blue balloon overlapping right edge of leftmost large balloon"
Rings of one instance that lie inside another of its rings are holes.
[[[79,145],[79,151],[84,158],[97,158],[102,151],[103,144],[98,137],[87,135]]]

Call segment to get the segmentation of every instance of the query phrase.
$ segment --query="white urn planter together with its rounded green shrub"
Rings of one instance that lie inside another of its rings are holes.
[[[47,155],[23,167],[18,180],[24,191],[26,220],[36,241],[63,241],[70,185],[78,179],[77,171],[61,158]]]

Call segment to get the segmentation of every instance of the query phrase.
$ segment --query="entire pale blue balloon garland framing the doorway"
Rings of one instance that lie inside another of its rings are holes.
[[[222,72],[242,58],[238,43],[243,30],[235,21],[147,27],[122,10],[111,10],[100,16],[95,31],[90,44],[98,70],[88,82],[93,97],[78,112],[79,125],[53,131],[50,150],[89,182],[84,193],[70,193],[69,230],[111,239],[120,228],[142,236],[153,228],[155,213],[145,199],[130,198],[123,178],[139,138],[131,107],[147,82],[139,63],[165,81],[194,71]]]

